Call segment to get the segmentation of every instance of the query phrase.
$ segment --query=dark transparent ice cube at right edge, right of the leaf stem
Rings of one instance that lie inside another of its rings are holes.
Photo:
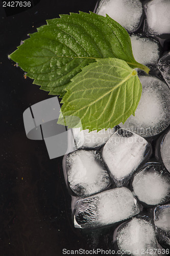
[[[158,69],[170,88],[170,52],[160,58],[158,62]]]

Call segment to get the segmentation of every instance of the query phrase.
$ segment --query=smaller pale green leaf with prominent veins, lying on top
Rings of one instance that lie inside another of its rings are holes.
[[[141,83],[135,69],[124,60],[98,59],[71,79],[62,99],[58,123],[74,127],[79,117],[82,128],[102,130],[125,122],[135,110],[141,96]]]

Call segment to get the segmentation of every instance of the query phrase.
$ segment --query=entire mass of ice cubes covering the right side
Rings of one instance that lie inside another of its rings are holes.
[[[168,255],[162,247],[170,247],[170,0],[101,0],[96,13],[130,33],[135,59],[151,72],[139,73],[143,90],[135,116],[99,133],[72,130],[77,147],[64,157],[63,169],[74,224],[120,222],[113,238],[117,250]]]

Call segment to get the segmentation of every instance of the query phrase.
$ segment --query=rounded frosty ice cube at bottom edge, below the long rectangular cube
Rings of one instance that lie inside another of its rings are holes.
[[[129,251],[133,256],[158,255],[154,227],[151,222],[142,218],[132,218],[128,223],[122,224],[117,230],[116,240],[121,251]]]

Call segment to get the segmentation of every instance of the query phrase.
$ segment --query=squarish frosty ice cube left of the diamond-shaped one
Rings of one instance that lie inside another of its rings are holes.
[[[99,152],[78,150],[66,158],[69,186],[76,195],[87,197],[107,188],[109,174]]]

